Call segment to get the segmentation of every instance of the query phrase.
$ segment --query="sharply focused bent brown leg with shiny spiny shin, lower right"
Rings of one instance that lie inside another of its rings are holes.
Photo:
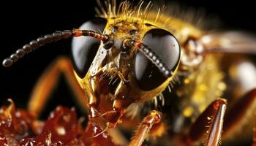
[[[225,99],[217,99],[206,108],[190,128],[187,139],[189,145],[200,140],[205,134],[207,136],[205,145],[218,145],[226,106]]]

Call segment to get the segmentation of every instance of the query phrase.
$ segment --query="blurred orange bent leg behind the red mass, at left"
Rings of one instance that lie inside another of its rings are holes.
[[[45,106],[51,91],[58,82],[59,75],[63,73],[64,77],[67,79],[69,86],[72,88],[72,91],[75,92],[75,95],[81,104],[81,107],[86,107],[86,97],[85,93],[80,88],[75,75],[73,73],[72,64],[69,58],[58,58],[53,64],[50,64],[48,69],[42,74],[42,76],[37,81],[37,85],[33,92],[31,93],[31,99],[29,101],[29,112],[35,117],[38,117],[40,112]]]

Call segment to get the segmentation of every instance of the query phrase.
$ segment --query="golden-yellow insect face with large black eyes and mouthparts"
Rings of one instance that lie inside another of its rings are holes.
[[[91,29],[87,24],[82,29]],[[75,38],[72,47],[76,77],[94,110],[102,112],[98,106],[100,98],[111,99],[113,110],[123,111],[133,102],[146,101],[161,93],[178,69],[180,48],[176,38],[164,29],[146,25],[142,20],[112,18],[102,26],[105,29],[100,31],[109,37],[108,42],[100,44]],[[148,49],[146,52],[139,51],[143,49],[138,48],[142,42],[145,44],[143,48]],[[130,45],[132,43],[137,44]],[[94,59],[90,58],[91,52],[96,50]],[[83,59],[83,53],[90,61]],[[168,76],[163,74],[167,70],[171,71],[171,74],[167,72]]]

